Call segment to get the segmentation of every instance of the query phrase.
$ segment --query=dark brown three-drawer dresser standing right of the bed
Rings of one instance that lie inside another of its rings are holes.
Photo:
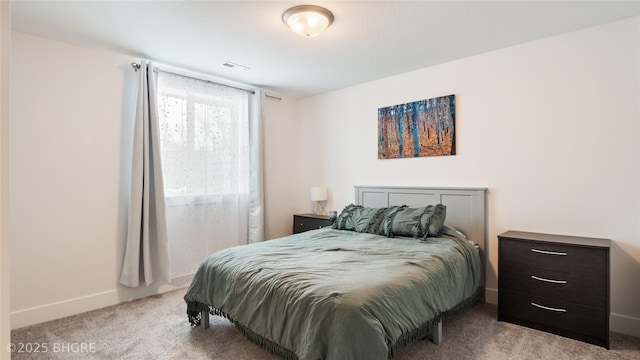
[[[498,236],[498,320],[609,348],[608,239]]]

